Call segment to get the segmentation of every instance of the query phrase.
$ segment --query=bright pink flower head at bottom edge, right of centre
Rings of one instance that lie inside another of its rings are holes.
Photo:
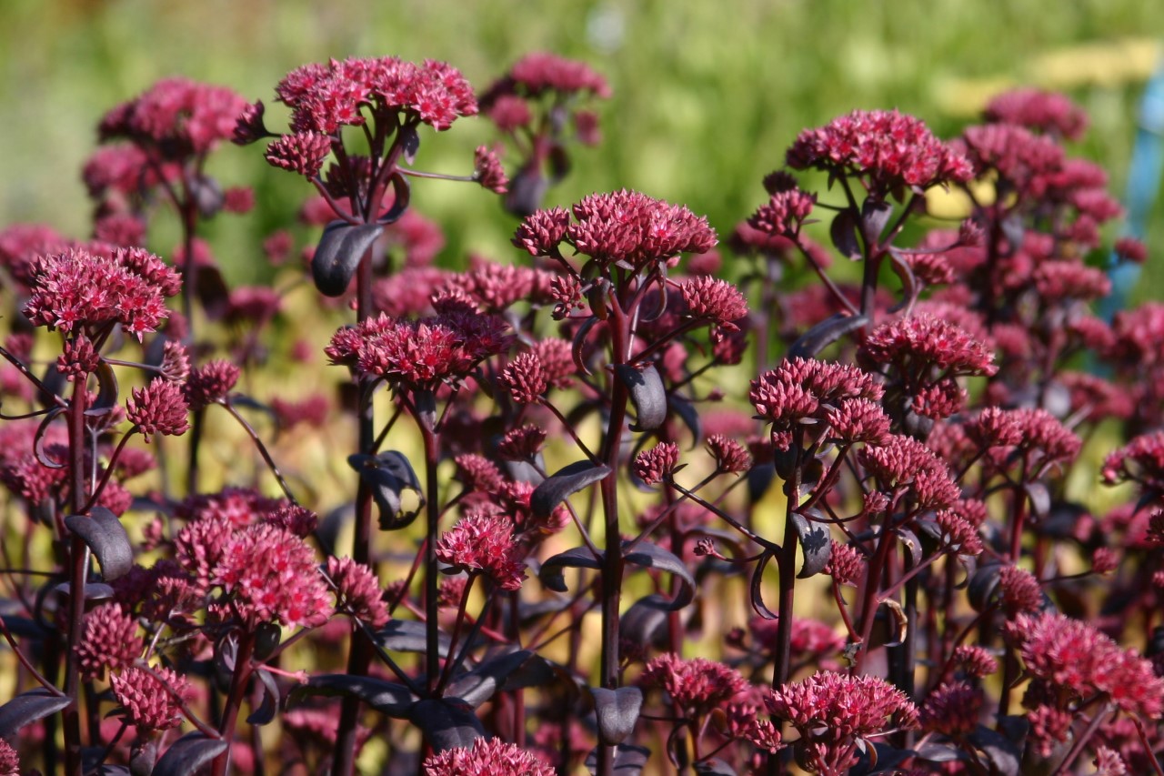
[[[917,707],[875,676],[819,672],[769,691],[768,711],[801,734],[797,761],[814,773],[842,774],[873,736],[917,727]]]

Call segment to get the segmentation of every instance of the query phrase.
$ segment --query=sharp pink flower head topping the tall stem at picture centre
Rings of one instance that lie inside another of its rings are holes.
[[[518,227],[513,245],[535,256],[560,258],[565,244],[606,274],[615,264],[638,271],[716,245],[707,218],[638,191],[590,195],[570,212],[573,221],[556,209],[533,213]]]

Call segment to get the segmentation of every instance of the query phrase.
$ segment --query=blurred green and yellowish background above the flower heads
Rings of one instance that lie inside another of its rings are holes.
[[[478,89],[532,50],[603,72],[615,91],[598,105],[604,141],[577,149],[551,203],[636,188],[726,233],[760,203],[761,177],[801,128],[897,107],[950,136],[991,94],[1020,84],[1064,90],[1091,112],[1073,150],[1102,163],[1122,198],[1162,41],[1164,3],[1145,0],[0,0],[0,226],[36,220],[86,234],[79,169],[94,126],[157,78],[220,83],[270,106],[291,68],[385,54],[446,59]],[[270,107],[269,126],[285,126],[281,106]],[[467,172],[471,149],[490,137],[480,120],[430,133],[418,167]],[[257,280],[260,239],[293,220],[308,186],[269,168],[256,147],[225,148],[212,172],[257,189],[253,213],[217,219],[210,235],[233,281]],[[480,188],[421,181],[413,203],[448,231],[442,263],[467,249],[513,256],[513,221]],[[1156,211],[1150,247],[1164,245],[1164,206]],[[151,247],[168,253],[172,235],[163,223]]]

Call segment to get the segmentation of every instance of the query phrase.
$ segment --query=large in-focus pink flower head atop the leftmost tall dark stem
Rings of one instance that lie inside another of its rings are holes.
[[[169,317],[165,297],[180,289],[178,274],[142,248],[71,248],[34,262],[23,312],[70,333],[115,322],[140,340]]]

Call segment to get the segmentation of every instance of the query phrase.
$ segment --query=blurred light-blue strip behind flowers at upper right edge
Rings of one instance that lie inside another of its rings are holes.
[[[1128,213],[1123,233],[1143,240],[1164,172],[1164,63],[1161,63],[1159,70],[1144,90],[1138,124],[1123,203]],[[1100,303],[1100,315],[1105,320],[1110,322],[1127,305],[1128,295],[1140,280],[1140,269],[1136,263],[1116,263],[1115,256],[1112,256],[1112,269],[1108,273],[1112,277],[1112,294]]]

